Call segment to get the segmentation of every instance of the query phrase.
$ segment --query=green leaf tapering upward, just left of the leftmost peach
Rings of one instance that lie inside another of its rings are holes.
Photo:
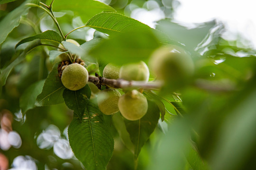
[[[62,97],[64,85],[59,77],[57,67],[58,64],[55,64],[47,76],[43,91],[37,96],[36,106],[48,106],[64,102]]]

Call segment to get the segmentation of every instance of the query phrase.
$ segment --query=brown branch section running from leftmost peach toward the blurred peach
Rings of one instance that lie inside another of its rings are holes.
[[[89,76],[89,82],[95,84],[96,86],[99,85],[108,85],[112,88],[122,88],[122,89],[129,89],[129,88],[143,88],[147,90],[159,90],[162,86],[162,82],[144,82],[144,81],[127,81],[124,79],[108,79],[104,77],[95,77]]]

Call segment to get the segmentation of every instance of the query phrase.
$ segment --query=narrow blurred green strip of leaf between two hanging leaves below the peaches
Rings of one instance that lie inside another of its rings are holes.
[[[124,123],[124,118],[121,116],[120,112],[115,113],[112,117],[112,122],[115,128],[118,131],[118,134],[125,144],[125,146],[132,152],[134,153],[134,146],[131,142],[130,135],[128,131],[126,130],[125,123]]]

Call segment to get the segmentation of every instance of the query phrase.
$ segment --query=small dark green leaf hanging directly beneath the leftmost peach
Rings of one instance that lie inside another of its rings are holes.
[[[65,89],[63,92],[63,98],[67,107],[74,110],[76,116],[82,121],[82,115],[91,97],[91,89],[89,85],[86,85],[80,90],[72,91]]]

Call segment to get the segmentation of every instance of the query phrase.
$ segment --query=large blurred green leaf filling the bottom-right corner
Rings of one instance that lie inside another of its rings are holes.
[[[221,123],[214,150],[211,152],[209,164],[214,170],[255,169],[255,80],[248,84],[244,91],[238,93],[239,95],[227,101],[229,103],[225,103],[224,106],[226,110],[220,112],[229,112],[229,115],[225,115],[224,122]],[[217,120],[219,123],[219,119]]]

